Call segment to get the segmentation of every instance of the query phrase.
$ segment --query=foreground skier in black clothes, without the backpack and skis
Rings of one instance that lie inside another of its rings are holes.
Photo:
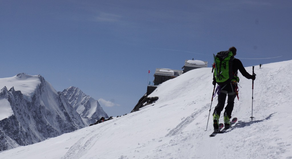
[[[230,47],[228,51],[231,51],[233,56],[235,56],[237,50],[235,47]],[[248,72],[246,72],[240,60],[234,58],[232,62],[232,74],[236,77],[237,77],[238,70],[245,78],[252,79],[252,80],[256,79],[255,75],[250,75]],[[239,78],[237,81],[239,81]],[[216,79],[215,79],[214,74],[213,74],[212,84],[214,86],[216,85]],[[224,112],[224,125],[225,125],[225,128],[230,126],[230,118],[231,118],[231,113],[234,107],[234,99],[237,96],[237,92],[238,92],[237,82],[233,82],[233,80],[230,82],[230,84],[218,85],[218,86],[219,86],[218,104],[215,107],[214,112],[213,112],[214,129],[218,129],[219,127],[219,117],[220,117],[221,111],[224,108],[227,95],[228,95],[228,98],[227,98],[227,106],[225,107],[225,112]]]

